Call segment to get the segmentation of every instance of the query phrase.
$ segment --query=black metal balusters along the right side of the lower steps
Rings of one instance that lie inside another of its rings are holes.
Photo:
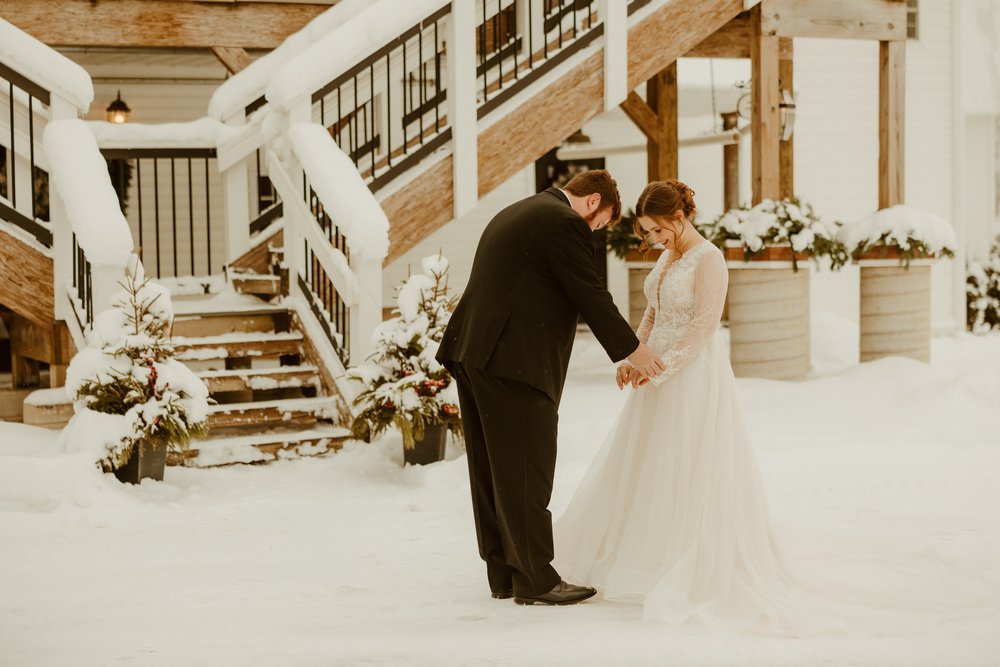
[[[348,264],[351,261],[350,250],[347,247],[347,238],[341,233],[340,228],[334,224],[323,208],[323,203],[319,200],[316,192],[305,185],[303,188],[308,193],[306,203],[312,212],[316,222],[319,223],[320,230],[331,247],[336,248],[344,257]],[[346,367],[351,358],[351,312],[343,297],[337,292],[333,281],[327,274],[323,265],[316,258],[315,252],[309,245],[309,240],[303,240],[303,250],[305,257],[305,275],[299,276],[299,287],[303,294],[311,296],[309,305],[313,315],[323,327],[327,338],[333,345],[337,356]]]

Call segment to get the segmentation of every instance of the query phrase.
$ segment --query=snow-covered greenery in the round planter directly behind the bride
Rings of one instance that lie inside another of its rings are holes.
[[[847,263],[847,250],[837,240],[839,223],[820,220],[810,204],[798,199],[765,199],[752,208],[726,211],[712,223],[699,227],[720,248],[739,247],[743,259],[750,261],[767,246],[790,246],[794,251],[792,267],[798,265],[794,253],[806,253],[812,259],[830,258],[830,268]]]

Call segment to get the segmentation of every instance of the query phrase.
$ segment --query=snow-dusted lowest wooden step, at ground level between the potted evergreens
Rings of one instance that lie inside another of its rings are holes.
[[[167,463],[198,468],[236,463],[268,463],[278,459],[336,452],[351,439],[349,429],[326,424],[255,435],[216,435],[232,430],[235,429],[216,430],[208,438],[191,443],[191,448],[187,451],[168,454]]]

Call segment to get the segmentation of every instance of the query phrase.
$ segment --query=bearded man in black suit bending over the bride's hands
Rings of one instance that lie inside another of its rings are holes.
[[[548,504],[579,317],[613,361],[627,357],[648,376],[663,369],[594,269],[591,232],[620,215],[618,186],[603,169],[500,211],[437,353],[458,385],[479,554],[495,598],[564,605],[596,593],[553,569]]]

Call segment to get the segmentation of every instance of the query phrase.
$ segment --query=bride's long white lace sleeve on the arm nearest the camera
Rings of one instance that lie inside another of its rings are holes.
[[[683,321],[686,319],[683,311],[676,313],[675,317],[680,320],[676,322],[680,336],[674,338],[666,349],[661,349],[655,341],[650,344],[667,366],[662,373],[650,378],[653,384],[661,384],[693,359],[718,330],[722,320],[726,290],[729,288],[726,261],[722,253],[714,248],[703,252],[697,260],[694,268],[694,308],[690,320]]]

